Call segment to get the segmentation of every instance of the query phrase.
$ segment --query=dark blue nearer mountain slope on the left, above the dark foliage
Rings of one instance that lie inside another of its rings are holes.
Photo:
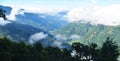
[[[28,25],[23,25],[23,24],[18,24],[18,23],[9,23],[5,26],[0,26],[0,35],[8,36],[13,40],[17,41],[29,41],[29,37],[35,33],[38,32],[44,32],[45,34],[47,32],[28,26]],[[47,33],[49,37],[52,37],[49,33]]]

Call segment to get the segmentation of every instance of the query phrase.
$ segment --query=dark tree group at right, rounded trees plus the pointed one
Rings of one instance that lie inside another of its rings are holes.
[[[120,54],[118,45],[109,37],[101,48],[95,43],[89,45],[73,43],[72,47],[76,51],[76,61],[117,61]]]

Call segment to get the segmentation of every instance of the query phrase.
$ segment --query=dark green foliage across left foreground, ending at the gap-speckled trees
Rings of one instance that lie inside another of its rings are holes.
[[[12,42],[0,38],[0,61],[70,61],[70,51],[57,47],[43,48],[40,42],[33,45],[25,42]]]

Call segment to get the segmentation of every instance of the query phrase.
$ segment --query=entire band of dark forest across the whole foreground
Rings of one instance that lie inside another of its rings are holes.
[[[72,49],[43,47],[40,42],[28,44],[0,37],[0,61],[117,61],[119,47],[107,38],[100,47],[95,43],[73,43]]]

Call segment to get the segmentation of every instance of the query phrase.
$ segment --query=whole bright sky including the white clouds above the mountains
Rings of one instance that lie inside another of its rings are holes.
[[[120,25],[120,0],[2,0],[0,5],[20,7],[32,12],[51,12],[52,14],[68,10],[64,18],[69,22]],[[18,14],[17,9],[14,8],[9,17],[15,19],[16,14]]]

